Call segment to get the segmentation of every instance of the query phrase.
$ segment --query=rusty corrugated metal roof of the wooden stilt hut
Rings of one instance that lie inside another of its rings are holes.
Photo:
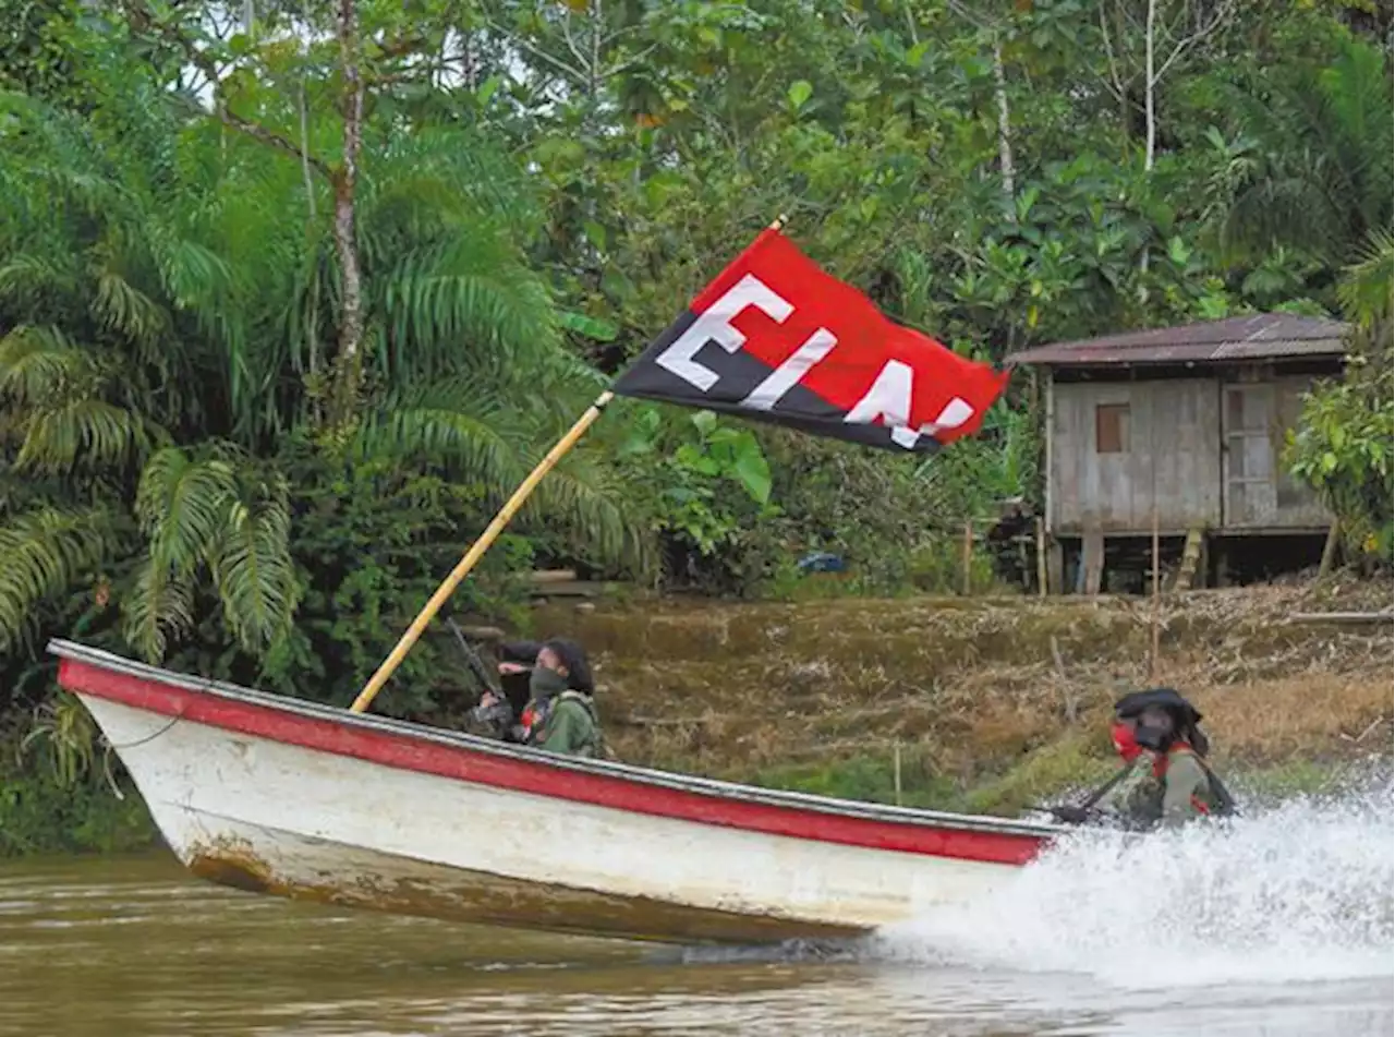
[[[1267,313],[1060,342],[1014,353],[1006,363],[1094,367],[1342,356],[1349,331],[1349,324],[1324,317]]]

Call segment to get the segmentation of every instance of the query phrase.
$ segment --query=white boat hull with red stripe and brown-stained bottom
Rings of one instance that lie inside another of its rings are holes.
[[[252,892],[682,943],[840,938],[983,896],[1052,835],[572,761],[92,655],[66,655],[60,681],[166,842]]]

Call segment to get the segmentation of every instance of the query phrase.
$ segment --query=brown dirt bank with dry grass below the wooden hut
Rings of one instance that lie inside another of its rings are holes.
[[[1395,624],[1293,624],[1395,606],[1335,582],[1165,599],[1161,670],[1230,772],[1395,748]],[[593,652],[622,758],[742,780],[1017,811],[1108,770],[1105,717],[1148,682],[1140,599],[912,599],[550,607]],[[1317,772],[1314,772],[1317,773]]]

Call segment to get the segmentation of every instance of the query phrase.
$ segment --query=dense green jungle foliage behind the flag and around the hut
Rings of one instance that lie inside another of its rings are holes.
[[[1295,444],[1395,550],[1391,25],[1357,0],[0,0],[0,709],[42,645],[343,702],[776,214],[958,349],[1341,313]],[[889,590],[1038,493],[1035,387],[935,461],[612,406],[460,592]],[[425,643],[399,710],[452,699]]]

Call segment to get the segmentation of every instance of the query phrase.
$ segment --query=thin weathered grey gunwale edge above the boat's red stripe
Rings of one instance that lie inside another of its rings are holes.
[[[91,648],[66,638],[50,639],[47,643],[47,652],[59,659],[67,659],[100,670],[114,671],[138,681],[165,684],[180,691],[212,695],[215,698],[240,702],[243,705],[259,706],[273,712],[293,713],[315,720],[328,720],[331,723],[359,727],[360,730],[370,733],[414,738],[448,748],[480,752],[527,765],[615,777],[629,780],[636,784],[692,793],[713,800],[755,803],[766,807],[829,814],[884,823],[898,823],[915,828],[983,832],[1003,836],[1016,835],[1041,840],[1050,840],[1070,830],[1064,826],[1042,822],[1014,821],[1010,818],[993,818],[975,814],[950,814],[915,807],[869,803],[864,800],[840,800],[815,793],[799,793],[785,789],[764,789],[760,786],[702,777],[699,775],[657,770],[619,761],[590,759],[583,756],[565,756],[541,752],[540,749],[512,745],[509,743],[485,738],[467,731],[452,731],[444,727],[431,727],[412,720],[399,720],[396,717],[382,716],[381,713],[354,713],[343,706],[332,706],[324,702],[257,691],[254,688],[244,688],[237,684],[216,681],[208,677],[194,677],[191,674],[166,670],[149,663],[141,663],[134,659],[126,659],[114,652]],[[100,694],[95,694],[95,696],[106,698]],[[158,710],[146,709],[146,712]],[[208,726],[216,727],[218,724]]]

